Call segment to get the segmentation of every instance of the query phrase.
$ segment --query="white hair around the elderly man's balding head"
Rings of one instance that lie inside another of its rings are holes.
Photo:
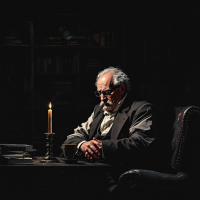
[[[117,67],[112,67],[112,66],[98,73],[97,78],[96,78],[96,83],[95,83],[96,86],[97,86],[97,81],[99,77],[107,72],[113,72],[113,84],[115,86],[118,86],[124,83],[126,85],[126,91],[127,92],[130,91],[130,82],[129,82],[128,76],[122,71],[122,69],[117,68]]]

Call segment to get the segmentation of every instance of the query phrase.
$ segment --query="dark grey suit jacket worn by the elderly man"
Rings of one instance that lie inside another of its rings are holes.
[[[96,105],[89,136],[84,135],[86,140],[92,140],[103,116],[102,107]],[[102,140],[105,162],[138,168],[149,166],[154,152],[154,119],[152,104],[146,101],[132,102],[127,95],[115,117],[110,140]],[[81,141],[83,138],[76,136],[67,139],[65,143],[78,144]]]

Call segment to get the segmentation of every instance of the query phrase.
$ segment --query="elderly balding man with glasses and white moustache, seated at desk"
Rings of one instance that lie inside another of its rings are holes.
[[[155,139],[152,105],[131,98],[129,78],[119,68],[101,71],[96,86],[100,105],[65,143],[76,143],[77,155],[90,161],[103,159],[127,169],[148,167]]]

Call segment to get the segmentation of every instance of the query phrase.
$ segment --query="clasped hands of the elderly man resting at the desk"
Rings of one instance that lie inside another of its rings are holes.
[[[80,146],[80,150],[85,154],[85,158],[93,161],[100,158],[102,154],[102,143],[100,140],[93,138],[93,140],[84,142]]]

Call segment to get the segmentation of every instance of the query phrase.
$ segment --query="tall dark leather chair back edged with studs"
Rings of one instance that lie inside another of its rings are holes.
[[[200,108],[175,108],[171,168],[194,175],[199,170]]]

